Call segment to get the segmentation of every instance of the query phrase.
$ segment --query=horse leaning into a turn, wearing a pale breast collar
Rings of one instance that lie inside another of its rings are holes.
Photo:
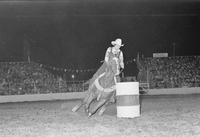
[[[81,106],[85,106],[85,111],[88,113],[88,117],[92,116],[99,108],[105,109],[105,106],[109,103],[111,97],[114,96],[116,90],[115,74],[117,73],[118,59],[112,58],[107,62],[106,71],[100,74],[92,83],[89,84],[89,88],[86,97],[82,102],[76,105],[72,111],[76,112]],[[89,110],[90,104],[97,100],[98,103],[94,108]],[[100,111],[100,115],[103,111]]]

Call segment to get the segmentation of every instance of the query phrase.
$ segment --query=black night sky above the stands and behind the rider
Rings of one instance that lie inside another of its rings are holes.
[[[125,62],[200,54],[200,3],[191,0],[0,1],[0,59],[71,69],[98,68],[111,41],[122,38]],[[29,52],[28,52],[29,51]],[[125,66],[135,75],[136,64]]]

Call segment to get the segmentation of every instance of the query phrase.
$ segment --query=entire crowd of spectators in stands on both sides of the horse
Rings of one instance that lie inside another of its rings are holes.
[[[200,87],[200,56],[142,58],[137,64],[137,80],[150,88]],[[0,63],[0,95],[81,92],[83,83],[66,81],[34,62]]]

